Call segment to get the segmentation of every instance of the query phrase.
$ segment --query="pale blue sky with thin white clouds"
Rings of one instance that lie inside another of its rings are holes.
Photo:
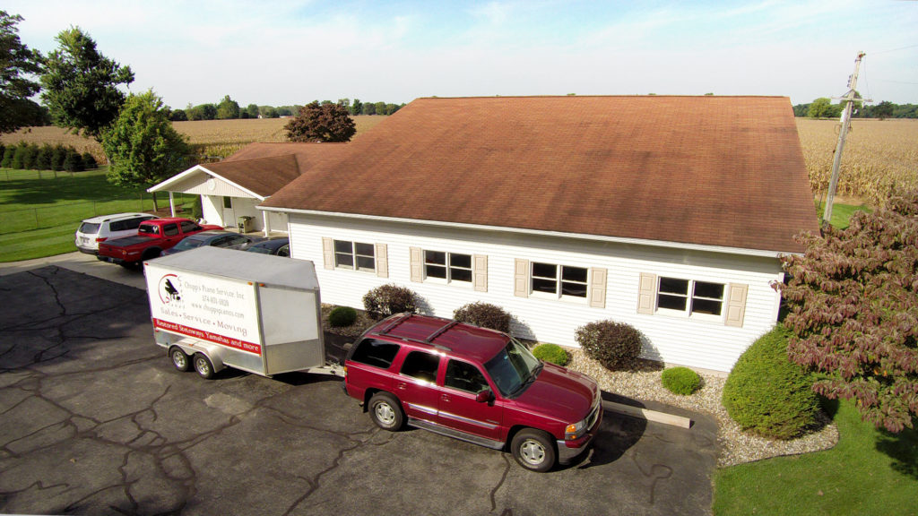
[[[5,0],[47,53],[76,26],[174,108],[420,96],[841,96],[918,104],[918,1]]]

